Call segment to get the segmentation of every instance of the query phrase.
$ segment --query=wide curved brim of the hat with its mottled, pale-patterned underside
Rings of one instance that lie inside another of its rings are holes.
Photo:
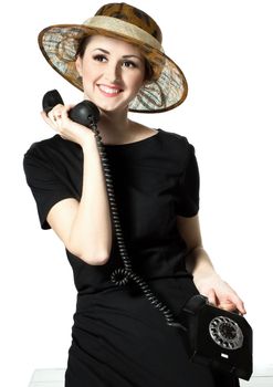
[[[39,46],[49,64],[66,81],[83,91],[82,79],[75,66],[81,40],[88,35],[105,35],[137,45],[151,65],[155,76],[145,83],[128,109],[136,113],[160,113],[180,105],[188,94],[187,80],[180,67],[162,51],[149,44],[102,28],[84,24],[56,24],[43,29],[38,36]]]

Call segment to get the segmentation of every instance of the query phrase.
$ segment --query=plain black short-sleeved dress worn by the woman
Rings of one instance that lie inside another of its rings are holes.
[[[185,137],[162,129],[105,148],[133,270],[176,314],[198,292],[185,266],[186,243],[176,223],[176,216],[198,212],[195,149]],[[33,144],[24,171],[43,229],[50,228],[46,215],[54,203],[81,199],[83,154],[77,144],[59,135]],[[115,237],[104,265],[66,254],[78,295],[65,387],[238,386],[237,379],[189,362],[182,331],[168,326],[137,285],[111,282],[112,272],[123,268]]]

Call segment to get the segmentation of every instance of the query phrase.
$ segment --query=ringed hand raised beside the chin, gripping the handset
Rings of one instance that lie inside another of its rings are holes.
[[[94,142],[93,132],[86,126],[80,125],[69,117],[69,111],[74,105],[56,105],[46,115],[42,112],[41,115],[45,123],[52,127],[62,138],[74,142],[81,147],[86,143]],[[94,142],[95,143],[95,142]]]

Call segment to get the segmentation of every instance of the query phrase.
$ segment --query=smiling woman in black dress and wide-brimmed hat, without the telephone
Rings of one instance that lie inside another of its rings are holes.
[[[183,73],[164,54],[156,22],[132,6],[111,3],[81,25],[43,30],[39,42],[53,69],[99,108],[134,272],[174,315],[198,292],[245,313],[202,247],[192,145],[127,116],[165,112],[187,96]],[[33,144],[24,157],[41,227],[63,241],[78,292],[65,386],[238,386],[237,378],[191,363],[181,332],[166,324],[138,286],[112,282],[123,262],[101,158],[94,133],[69,118],[71,107],[42,113],[57,134]]]

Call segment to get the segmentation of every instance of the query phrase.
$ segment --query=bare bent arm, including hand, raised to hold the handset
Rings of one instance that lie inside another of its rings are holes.
[[[54,112],[43,118],[63,138],[82,146],[82,197],[80,201],[73,198],[59,201],[46,220],[71,253],[88,264],[102,265],[111,253],[112,222],[101,157],[93,132],[71,122],[66,113],[67,108],[61,107],[62,118],[57,123],[52,118]]]

